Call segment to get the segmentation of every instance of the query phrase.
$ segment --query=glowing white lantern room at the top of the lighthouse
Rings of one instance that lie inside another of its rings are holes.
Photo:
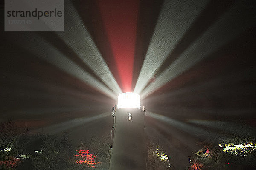
[[[121,93],[118,96],[117,108],[140,109],[140,95],[132,92]]]

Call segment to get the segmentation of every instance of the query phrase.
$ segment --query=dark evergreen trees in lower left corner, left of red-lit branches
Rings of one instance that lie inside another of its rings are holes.
[[[73,157],[67,133],[30,135],[15,122],[0,124],[1,170],[81,170]]]

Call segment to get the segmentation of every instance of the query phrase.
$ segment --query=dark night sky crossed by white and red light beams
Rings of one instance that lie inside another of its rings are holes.
[[[76,144],[134,91],[148,139],[183,164],[206,134],[256,127],[255,26],[253,0],[65,0],[64,32],[1,27],[0,121]]]

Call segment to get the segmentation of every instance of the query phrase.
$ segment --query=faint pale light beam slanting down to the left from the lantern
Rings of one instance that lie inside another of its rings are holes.
[[[58,123],[58,124],[55,124],[55,125],[50,125],[50,126],[44,127],[43,130],[45,132],[50,132],[51,134],[55,134],[55,133],[63,132],[65,130],[69,130],[69,129],[74,128],[74,127],[84,125],[84,124],[89,123],[89,122],[93,122],[93,121],[105,118],[105,117],[110,116],[110,115],[111,115],[110,113],[102,113],[102,114],[99,114],[99,115],[96,115],[96,116],[91,116],[91,117],[76,118],[76,119],[72,119],[72,120],[69,120],[69,121],[66,121],[66,122],[61,122],[61,123]],[[41,132],[41,131],[42,131],[42,129],[40,128],[40,129],[37,129],[37,130],[32,130],[31,133],[38,133],[38,132]]]

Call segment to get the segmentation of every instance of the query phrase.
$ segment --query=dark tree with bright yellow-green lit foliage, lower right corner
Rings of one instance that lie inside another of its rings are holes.
[[[256,145],[251,138],[223,139],[219,143],[201,142],[202,149],[194,153],[192,167],[202,170],[251,170],[256,167]]]

